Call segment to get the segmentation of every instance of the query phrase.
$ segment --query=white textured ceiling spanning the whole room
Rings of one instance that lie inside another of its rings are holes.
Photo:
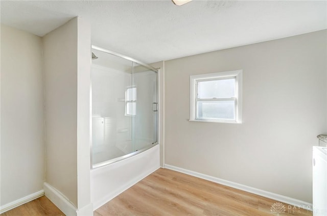
[[[327,1],[1,1],[1,22],[43,36],[80,16],[92,44],[146,63],[327,29]]]

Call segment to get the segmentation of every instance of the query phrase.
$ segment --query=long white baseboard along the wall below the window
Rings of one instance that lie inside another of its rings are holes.
[[[224,180],[224,179],[216,178],[216,177],[213,177],[213,176],[205,175],[205,174],[194,172],[194,171],[191,171],[191,170],[186,170],[186,169],[175,167],[175,166],[168,165],[168,164],[165,164],[165,168],[169,169],[169,170],[174,170],[174,171],[177,171],[177,172],[180,172],[180,173],[188,174],[188,175],[191,175],[191,176],[195,176],[195,177],[198,177],[198,178],[202,178],[202,179],[205,179],[205,180],[208,180],[208,181],[216,182],[218,184],[223,184],[223,185],[226,185],[226,186],[229,186],[229,187],[233,187],[233,188],[245,191],[245,192],[249,192],[249,193],[252,193],[252,194],[255,194],[255,195],[259,195],[259,196],[262,196],[262,197],[273,199],[273,200],[276,200],[276,201],[279,201],[279,202],[287,203],[287,204],[293,205],[295,207],[304,208],[304,209],[312,211],[312,203],[308,203],[308,202],[305,202],[305,201],[293,199],[291,197],[286,197],[286,196],[279,195],[279,194],[274,194],[274,193],[271,193],[271,192],[260,190],[258,188],[246,186],[244,184],[239,184],[239,183],[236,183],[236,182],[227,181],[227,180]]]

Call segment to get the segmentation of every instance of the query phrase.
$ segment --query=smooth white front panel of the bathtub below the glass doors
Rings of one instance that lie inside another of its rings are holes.
[[[94,210],[160,167],[159,145],[124,160],[91,170]]]

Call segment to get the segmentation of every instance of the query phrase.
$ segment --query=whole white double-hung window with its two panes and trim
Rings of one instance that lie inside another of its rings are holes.
[[[190,120],[241,123],[242,70],[190,76]]]

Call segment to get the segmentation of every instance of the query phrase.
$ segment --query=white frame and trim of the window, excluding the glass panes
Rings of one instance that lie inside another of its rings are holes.
[[[243,70],[232,70],[224,71],[218,73],[207,73],[200,75],[191,75],[190,76],[190,121],[200,121],[200,122],[225,122],[225,123],[242,123],[242,73]],[[217,80],[217,79],[227,79],[235,77],[235,97],[229,98],[228,100],[235,101],[235,120],[226,120],[226,119],[198,119],[196,118],[197,112],[197,101],[222,101],[227,100],[223,98],[211,98],[211,99],[199,99],[197,98],[197,85],[198,82],[207,81],[207,80]]]

